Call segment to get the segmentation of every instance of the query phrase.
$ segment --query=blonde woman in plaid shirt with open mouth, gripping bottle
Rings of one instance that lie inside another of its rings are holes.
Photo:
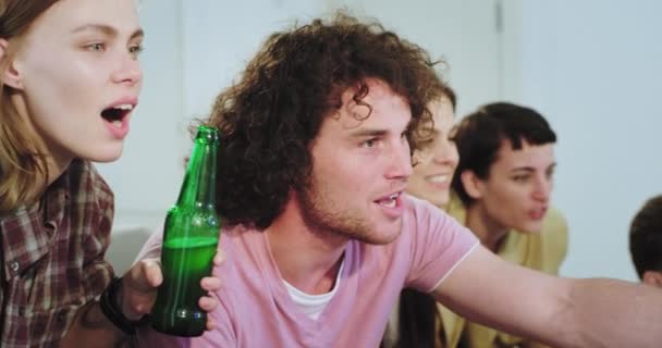
[[[142,42],[134,0],[0,0],[0,347],[115,347],[151,307],[158,266],[121,282],[103,260],[91,164],[122,153]]]

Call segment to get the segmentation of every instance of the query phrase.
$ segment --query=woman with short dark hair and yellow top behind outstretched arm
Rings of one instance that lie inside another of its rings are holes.
[[[532,109],[492,103],[463,119],[452,139],[455,144],[440,142],[437,154],[415,154],[436,162],[418,163],[408,191],[445,209],[503,259],[557,274],[567,225],[550,207],[556,136],[548,122]],[[453,151],[458,162],[452,161]],[[441,166],[427,170],[442,159],[456,164],[450,195],[442,192],[448,186],[432,187],[443,183],[443,175],[436,175]],[[543,347],[468,322],[414,290],[403,291],[397,322],[397,347]]]

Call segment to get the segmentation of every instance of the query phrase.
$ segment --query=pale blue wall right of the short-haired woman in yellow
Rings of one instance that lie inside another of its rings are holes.
[[[565,275],[636,279],[628,224],[662,192],[660,13],[654,0],[523,2],[520,101],[559,135]]]

